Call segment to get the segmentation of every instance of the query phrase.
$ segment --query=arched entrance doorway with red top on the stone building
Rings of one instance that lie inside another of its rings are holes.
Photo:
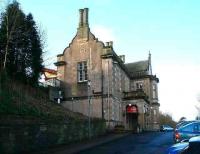
[[[126,106],[126,124],[129,130],[137,131],[138,109],[136,105]]]

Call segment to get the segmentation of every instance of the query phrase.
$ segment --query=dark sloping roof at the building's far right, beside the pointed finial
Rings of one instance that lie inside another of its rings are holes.
[[[149,61],[144,60],[144,61],[138,61],[134,63],[127,63],[125,64],[125,66],[130,73],[144,72],[144,71],[148,71],[149,69]]]

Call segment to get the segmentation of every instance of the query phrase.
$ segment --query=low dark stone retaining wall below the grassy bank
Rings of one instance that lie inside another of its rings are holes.
[[[105,133],[105,122],[91,120],[91,137]],[[0,123],[0,153],[29,153],[88,138],[88,120],[36,122],[12,120]]]

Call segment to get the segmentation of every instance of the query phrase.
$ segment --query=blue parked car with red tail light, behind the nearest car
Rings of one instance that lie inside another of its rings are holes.
[[[176,129],[174,131],[174,141],[177,143],[199,135],[200,121],[194,121]]]

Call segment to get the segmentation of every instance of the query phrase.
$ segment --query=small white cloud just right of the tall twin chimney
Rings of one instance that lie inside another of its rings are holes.
[[[103,42],[117,41],[112,28],[105,27],[103,25],[95,25],[91,28],[91,31],[100,41]]]

